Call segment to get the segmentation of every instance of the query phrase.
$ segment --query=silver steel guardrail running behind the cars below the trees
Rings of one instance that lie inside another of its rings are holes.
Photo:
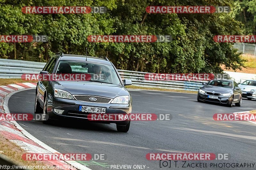
[[[21,78],[22,74],[38,74],[46,63],[31,62],[23,60],[0,59],[0,78]],[[132,85],[141,87],[155,87],[164,89],[197,91],[207,81],[152,81],[145,79],[148,72],[117,70],[122,79],[132,80]],[[256,79],[256,75],[227,71],[231,78],[240,82],[241,79]],[[255,77],[255,78],[254,78]]]

